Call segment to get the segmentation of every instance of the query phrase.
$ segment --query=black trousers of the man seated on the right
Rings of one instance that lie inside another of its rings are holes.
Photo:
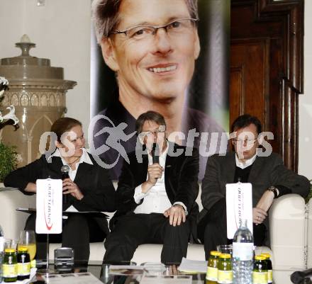
[[[263,223],[254,224],[252,229],[255,246],[262,246],[267,227]],[[205,217],[199,221],[197,234],[201,243],[204,244],[206,260],[209,258],[210,251],[216,251],[219,244],[232,244],[233,239],[227,238],[225,199],[213,205]]]

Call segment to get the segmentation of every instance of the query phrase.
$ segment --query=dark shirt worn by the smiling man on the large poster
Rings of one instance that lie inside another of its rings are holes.
[[[108,105],[108,107],[105,110],[102,110],[99,115],[106,115],[114,125],[118,125],[119,123],[127,123],[127,127],[124,130],[124,132],[129,135],[130,133],[135,131],[135,118],[133,118],[133,115],[131,115],[128,110],[122,105],[122,103],[118,100],[118,90],[116,90],[112,94],[112,100],[111,103]],[[94,134],[96,132],[99,132],[104,127],[112,127],[111,122],[106,119],[100,119],[96,122],[96,125],[94,126]],[[221,140],[221,135],[225,130],[223,130],[223,127],[221,125],[218,125],[216,120],[213,120],[213,118],[208,117],[206,113],[202,113],[200,110],[195,110],[194,108],[187,108],[186,111],[183,112],[183,118],[182,118],[182,132],[184,134],[188,135],[189,130],[196,129],[196,132],[199,132],[198,137],[194,137],[194,147],[199,149],[199,144],[202,138],[201,133],[207,132],[208,136],[206,136],[207,145],[209,148],[209,145],[211,143],[216,143],[216,148],[213,149],[213,146],[210,147],[210,154],[212,153],[218,153],[218,152],[226,152],[227,149],[227,143],[228,140]],[[211,136],[211,133],[218,132],[218,139],[214,141],[213,137]],[[101,135],[94,136],[94,146],[96,148],[101,147],[103,144],[105,144],[106,139],[108,137],[108,132],[104,132]],[[203,137],[204,138],[204,137]],[[133,152],[135,150],[135,145],[137,142],[137,136],[134,135],[130,138],[130,140],[123,141],[121,140],[121,145],[126,149],[127,153]],[[182,144],[186,145],[186,140],[182,141]],[[100,155],[102,159],[108,162],[108,164],[113,164],[116,160],[117,163],[115,166],[113,166],[112,169],[110,169],[111,177],[113,180],[118,180],[121,169],[123,165],[122,159],[118,159],[118,151],[116,149],[110,148],[108,151],[104,152]],[[204,177],[205,169],[206,169],[206,162],[207,157],[200,156],[199,157],[199,180],[201,181]]]

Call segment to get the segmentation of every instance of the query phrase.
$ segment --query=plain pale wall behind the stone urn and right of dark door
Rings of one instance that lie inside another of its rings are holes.
[[[37,44],[32,55],[48,57],[65,68],[65,79],[78,82],[67,93],[67,116],[79,118],[87,131],[90,115],[90,0],[0,0],[0,57],[18,55],[14,46],[23,33]],[[312,1],[305,3],[312,14]],[[299,98],[299,173],[312,178],[312,18],[305,17],[305,86]],[[87,134],[87,133],[86,133]]]

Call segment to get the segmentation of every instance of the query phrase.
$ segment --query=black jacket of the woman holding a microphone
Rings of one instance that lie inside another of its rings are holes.
[[[93,163],[79,164],[74,183],[77,183],[80,191],[82,191],[84,198],[77,200],[72,195],[68,196],[69,202],[63,208],[67,209],[70,205],[74,205],[79,211],[108,211],[113,212],[116,210],[116,191],[109,177],[108,170],[101,168],[94,158],[89,154]],[[4,179],[5,186],[12,186],[18,188],[26,195],[28,193],[25,188],[28,183],[35,183],[40,178],[62,178],[61,167],[62,160],[60,157],[52,157],[51,162],[45,159],[45,155],[40,159],[33,161],[27,166],[23,166],[16,171],[12,171]],[[49,160],[50,161],[50,160]]]

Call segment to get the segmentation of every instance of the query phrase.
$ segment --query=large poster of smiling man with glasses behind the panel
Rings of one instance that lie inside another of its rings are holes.
[[[168,139],[206,159],[228,136],[230,0],[94,0],[91,148],[118,179],[135,120],[161,113]],[[122,159],[123,158],[123,159]]]

